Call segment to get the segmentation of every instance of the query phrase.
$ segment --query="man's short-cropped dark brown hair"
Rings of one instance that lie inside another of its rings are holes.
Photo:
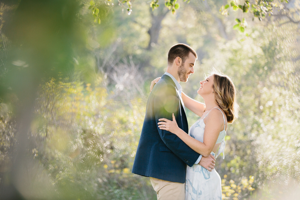
[[[180,57],[182,59],[182,62],[184,63],[189,54],[193,53],[194,56],[197,57],[197,53],[195,50],[193,50],[190,46],[187,44],[175,44],[172,46],[168,53],[168,65],[172,65],[176,57]]]

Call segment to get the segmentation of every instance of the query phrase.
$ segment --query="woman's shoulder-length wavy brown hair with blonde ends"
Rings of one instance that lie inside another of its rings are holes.
[[[214,76],[214,94],[217,105],[225,112],[227,122],[231,124],[238,118],[239,106],[236,102],[236,89],[232,80],[225,74],[215,69],[211,74]]]

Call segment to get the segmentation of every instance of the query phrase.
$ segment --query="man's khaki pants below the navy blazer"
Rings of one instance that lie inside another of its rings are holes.
[[[184,200],[185,184],[150,177],[157,200]]]

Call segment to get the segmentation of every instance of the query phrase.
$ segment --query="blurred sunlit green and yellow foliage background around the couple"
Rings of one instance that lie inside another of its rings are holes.
[[[170,10],[158,6],[166,2]],[[248,3],[247,14],[227,17],[219,0],[1,4],[0,192],[155,199],[149,178],[131,168],[150,82],[166,70],[169,48],[186,43],[198,54],[195,74],[181,83],[186,94],[202,101],[196,90],[211,67],[238,90],[240,117],[216,162],[223,199],[297,199],[300,4],[274,10],[268,2],[265,20],[252,21],[252,5],[266,2]],[[238,5],[224,9],[246,13]],[[186,113],[190,126],[199,119]]]

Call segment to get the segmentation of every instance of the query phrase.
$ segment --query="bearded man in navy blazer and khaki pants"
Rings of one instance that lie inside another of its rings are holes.
[[[158,119],[176,117],[179,128],[188,132],[179,82],[194,73],[196,52],[186,44],[176,44],[168,53],[167,72],[149,95],[146,116],[134,159],[132,173],[150,177],[157,199],[183,200],[186,165],[200,164],[211,171],[214,157],[202,157],[175,134],[159,129]],[[214,168],[214,167],[212,167]]]

